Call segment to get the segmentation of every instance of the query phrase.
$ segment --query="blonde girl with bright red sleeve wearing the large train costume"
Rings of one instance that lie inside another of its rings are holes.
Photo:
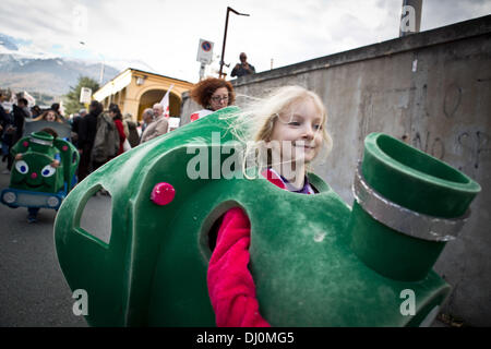
[[[326,119],[325,107],[316,94],[286,86],[238,115],[230,130],[246,145],[244,164],[252,158],[254,168],[282,189],[314,194],[316,190],[309,183],[307,171],[321,148],[331,151]],[[248,269],[249,243],[249,218],[241,208],[231,208],[218,229],[207,273],[217,326],[270,326],[261,316]]]

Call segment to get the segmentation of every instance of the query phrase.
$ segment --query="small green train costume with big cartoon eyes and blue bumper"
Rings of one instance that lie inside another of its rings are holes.
[[[13,156],[22,154],[22,159],[14,161],[10,185],[0,193],[1,203],[9,207],[58,209],[76,183],[77,149],[60,136],[55,139],[47,132],[35,131],[45,127],[56,128],[60,135],[64,135],[68,130],[70,135],[69,125],[45,121],[26,123],[28,135],[11,149]],[[59,158],[59,167],[51,166],[55,158]]]

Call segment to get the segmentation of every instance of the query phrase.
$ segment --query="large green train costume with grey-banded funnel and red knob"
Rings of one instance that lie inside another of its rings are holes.
[[[220,117],[233,110],[124,153],[64,200],[56,248],[71,289],[87,292],[87,322],[214,326],[206,287],[214,230],[225,212],[240,206],[251,220],[260,310],[273,326],[431,323],[451,290],[432,266],[460,229],[479,184],[384,134],[364,142],[352,208],[314,174],[315,195],[261,177],[225,179],[216,171],[230,165],[224,143],[232,135]],[[196,165],[201,151],[207,164]],[[205,176],[190,178],[196,166]],[[112,200],[108,243],[80,226],[101,188]]]

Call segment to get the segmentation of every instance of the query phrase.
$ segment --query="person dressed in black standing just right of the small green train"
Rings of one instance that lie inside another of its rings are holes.
[[[94,146],[94,139],[97,132],[97,117],[103,112],[103,106],[93,100],[88,108],[88,113],[79,123],[79,181],[82,181],[91,172],[91,154]]]

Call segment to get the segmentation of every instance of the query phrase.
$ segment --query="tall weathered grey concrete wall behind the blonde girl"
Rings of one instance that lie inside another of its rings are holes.
[[[491,325],[490,37],[491,15],[232,81],[239,106],[241,95],[288,84],[321,96],[334,149],[315,172],[349,204],[371,132],[405,140],[481,184],[468,224],[435,265],[454,287],[443,311],[476,326]],[[182,122],[199,109],[184,94]]]

